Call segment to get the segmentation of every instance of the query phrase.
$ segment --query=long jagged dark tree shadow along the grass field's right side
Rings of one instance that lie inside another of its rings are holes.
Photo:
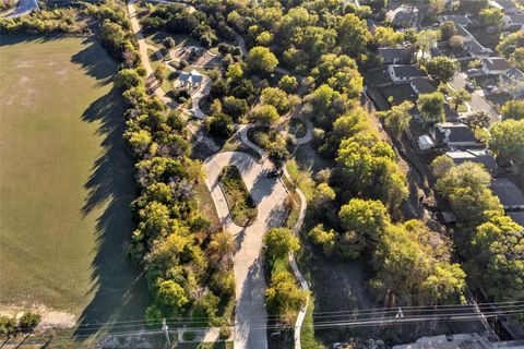
[[[86,50],[75,55],[73,61],[100,81],[110,79],[105,70],[97,67],[104,60],[91,60],[96,53],[96,46],[93,51],[91,48]],[[98,49],[97,55],[100,53]],[[93,164],[91,177],[85,183],[88,194],[82,213],[87,216],[94,213],[94,208],[103,208],[104,212],[97,217],[92,287],[85,294],[85,298],[93,299],[80,315],[73,335],[78,340],[107,330],[140,329],[140,321],[150,302],[145,280],[127,256],[134,229],[129,205],[136,189],[132,161],[122,139],[124,120],[119,92],[114,88],[95,100],[84,111],[82,120],[99,122],[97,133],[103,137],[102,155]]]

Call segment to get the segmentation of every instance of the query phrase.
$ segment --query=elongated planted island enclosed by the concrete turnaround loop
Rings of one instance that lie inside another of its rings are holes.
[[[249,226],[257,218],[257,205],[238,168],[225,167],[219,177],[219,184],[226,196],[233,221],[241,227]]]

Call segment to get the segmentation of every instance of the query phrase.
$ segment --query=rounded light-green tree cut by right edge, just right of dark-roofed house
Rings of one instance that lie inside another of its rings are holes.
[[[519,169],[524,169],[524,119],[495,123],[490,132],[489,147],[497,157],[511,160]]]

